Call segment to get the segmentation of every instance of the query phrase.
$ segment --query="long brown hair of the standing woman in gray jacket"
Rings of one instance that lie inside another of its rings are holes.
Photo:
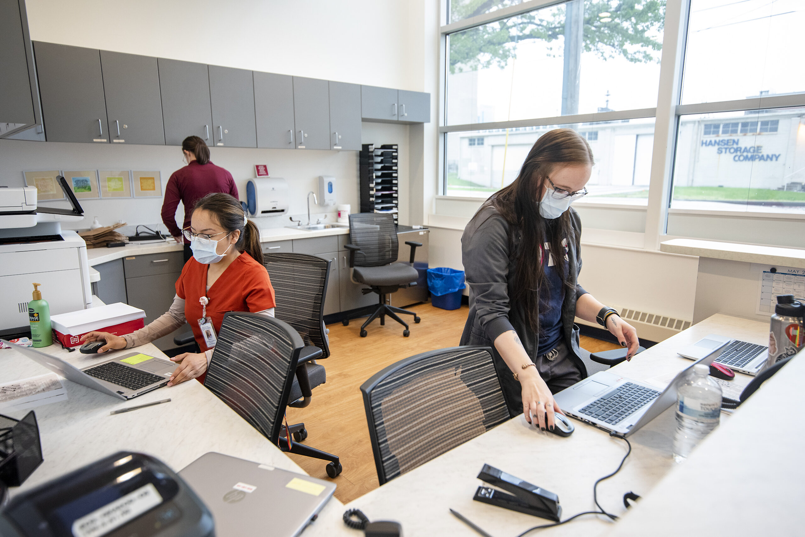
[[[510,288],[512,305],[518,308],[526,324],[539,333],[539,289],[545,280],[541,245],[550,243],[556,270],[566,286],[570,286],[568,262],[564,259],[562,240],[571,237],[570,211],[553,220],[539,214],[540,188],[557,166],[592,165],[590,146],[572,129],[549,130],[540,136],[528,152],[517,179],[490,197],[484,207],[492,206],[506,219],[521,239],[515,253],[514,285]],[[510,248],[514,248],[510,233]],[[543,293],[543,302],[547,301]]]

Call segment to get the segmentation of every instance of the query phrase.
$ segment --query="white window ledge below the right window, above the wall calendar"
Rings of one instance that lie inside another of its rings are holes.
[[[698,255],[702,258],[805,268],[805,250],[795,248],[675,238],[671,241],[661,242],[659,249],[669,254]]]

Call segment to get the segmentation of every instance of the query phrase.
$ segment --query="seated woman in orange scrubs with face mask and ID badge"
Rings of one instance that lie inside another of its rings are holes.
[[[254,312],[274,316],[274,288],[262,264],[260,231],[246,218],[233,196],[213,193],[196,203],[189,228],[193,257],[176,280],[171,308],[145,328],[125,336],[90,332],[81,341],[105,340],[99,353],[129,349],[167,336],[185,320],[193,330],[200,353],[172,357],[179,364],[167,386],[191,378],[204,382],[213,357],[216,335],[226,312]]]

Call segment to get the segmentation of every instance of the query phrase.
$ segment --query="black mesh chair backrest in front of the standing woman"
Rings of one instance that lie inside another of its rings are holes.
[[[509,419],[489,347],[408,357],[361,392],[381,485]]]

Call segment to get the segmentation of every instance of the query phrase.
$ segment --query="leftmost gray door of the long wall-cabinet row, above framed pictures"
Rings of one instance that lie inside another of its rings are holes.
[[[34,43],[48,142],[108,142],[101,52]]]

